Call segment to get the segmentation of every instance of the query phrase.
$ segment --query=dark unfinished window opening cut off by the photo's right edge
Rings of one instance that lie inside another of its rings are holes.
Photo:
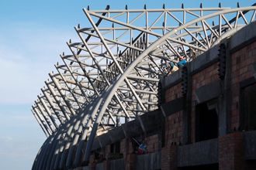
[[[256,130],[256,83],[241,90],[241,127],[243,130]]]

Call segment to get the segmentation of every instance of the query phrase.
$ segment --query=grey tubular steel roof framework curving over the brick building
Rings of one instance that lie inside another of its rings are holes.
[[[169,62],[190,61],[254,22],[256,7],[83,10],[91,26],[74,28],[80,41],[67,42],[71,53],[32,107],[48,137],[33,169],[88,161],[95,135],[157,109]]]

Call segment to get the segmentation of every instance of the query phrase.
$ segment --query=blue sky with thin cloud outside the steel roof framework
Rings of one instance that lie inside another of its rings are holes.
[[[29,169],[46,139],[30,106],[47,79],[47,73],[67,51],[65,42],[75,37],[73,27],[85,24],[81,8],[179,8],[217,6],[219,1],[199,0],[1,0],[0,1],[0,169]],[[237,1],[222,1],[236,7]],[[240,0],[240,6],[254,1]]]

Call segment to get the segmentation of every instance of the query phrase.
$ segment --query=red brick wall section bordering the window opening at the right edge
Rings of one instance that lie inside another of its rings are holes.
[[[252,75],[249,66],[256,62],[256,42],[245,46],[243,49],[231,55],[231,111],[230,111],[230,130],[239,128],[239,96],[240,82],[247,80]]]

